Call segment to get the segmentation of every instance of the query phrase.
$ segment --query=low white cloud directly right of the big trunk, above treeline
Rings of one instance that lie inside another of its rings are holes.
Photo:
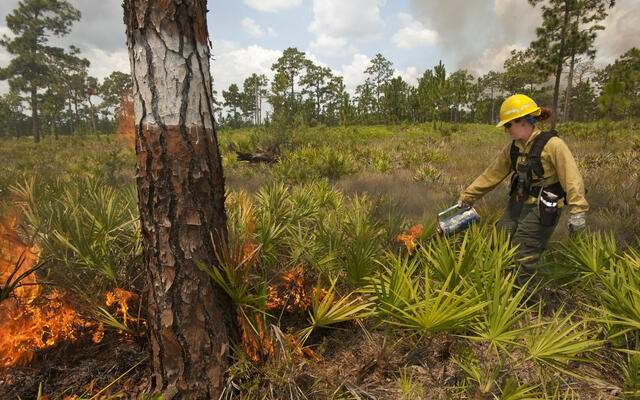
[[[222,40],[214,43],[211,73],[214,88],[222,93],[232,83],[241,86],[252,73],[265,74],[273,78],[271,65],[282,55],[282,51],[258,45],[240,47],[236,43]]]

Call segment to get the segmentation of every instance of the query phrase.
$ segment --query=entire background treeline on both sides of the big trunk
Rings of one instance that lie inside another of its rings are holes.
[[[330,68],[288,48],[272,65],[271,81],[252,74],[214,93],[218,125],[242,127],[273,121],[304,125],[349,125],[451,121],[493,123],[501,100],[525,93],[550,105],[561,121],[640,117],[640,50],[629,49],[613,64],[594,66],[598,22],[611,0],[529,0],[542,13],[537,39],[513,51],[502,72],[473,76],[448,72],[440,62],[417,85],[394,76],[393,63],[376,54],[355,93]],[[115,131],[123,105],[131,105],[131,77],[113,72],[103,82],[89,75],[80,50],[51,46],[80,20],[66,0],[22,0],[6,17],[11,35],[0,45],[12,59],[0,67],[9,83],[0,96],[0,136],[82,134]],[[214,76],[215,79],[215,76]],[[563,83],[563,84],[561,84]],[[264,107],[268,103],[270,106]]]

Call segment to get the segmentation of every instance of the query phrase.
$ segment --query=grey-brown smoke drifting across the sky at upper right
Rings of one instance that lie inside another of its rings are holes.
[[[453,68],[475,73],[501,69],[512,49],[524,49],[542,23],[540,7],[526,0],[411,0],[415,18],[438,32]],[[602,21],[596,63],[605,65],[632,46],[640,46],[640,0],[618,0]]]

